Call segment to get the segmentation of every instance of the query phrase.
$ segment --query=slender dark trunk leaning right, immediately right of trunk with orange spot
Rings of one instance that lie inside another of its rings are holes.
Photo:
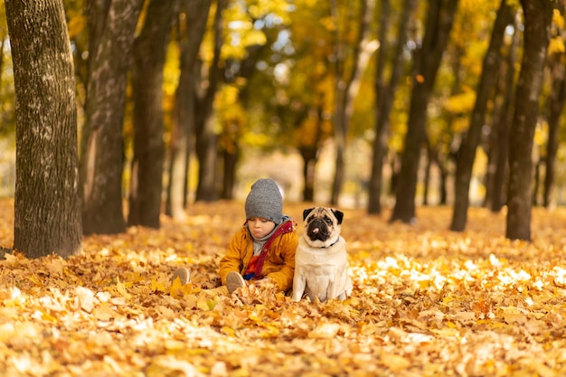
[[[476,159],[476,148],[479,145],[481,129],[486,119],[487,103],[493,97],[493,78],[496,76],[497,67],[501,61],[500,49],[503,44],[505,28],[512,22],[513,12],[511,7],[506,4],[505,0],[502,0],[484,58],[482,73],[477,83],[476,104],[472,110],[470,125],[458,154],[451,231],[464,231],[466,228],[469,185],[472,167]]]

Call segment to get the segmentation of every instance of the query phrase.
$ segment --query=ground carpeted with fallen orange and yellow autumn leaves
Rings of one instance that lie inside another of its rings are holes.
[[[0,203],[0,246],[13,203]],[[304,204],[286,204],[300,220]],[[6,376],[559,376],[566,374],[566,210],[533,211],[533,242],[505,214],[449,208],[416,225],[344,211],[353,297],[291,302],[263,288],[215,297],[241,203],[193,204],[184,222],[84,239],[71,259],[0,261]],[[297,227],[302,233],[302,222]],[[179,266],[195,284],[171,287]]]

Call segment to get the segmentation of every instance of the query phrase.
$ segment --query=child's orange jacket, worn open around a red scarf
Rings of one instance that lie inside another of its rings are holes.
[[[284,292],[293,287],[297,244],[298,236],[295,227],[293,231],[277,236],[269,247],[261,271],[262,278],[271,279]],[[242,226],[241,230],[232,237],[226,255],[220,261],[219,275],[222,285],[226,285],[226,275],[231,271],[237,271],[243,275],[250,265],[251,257],[253,257],[253,238],[248,228]]]

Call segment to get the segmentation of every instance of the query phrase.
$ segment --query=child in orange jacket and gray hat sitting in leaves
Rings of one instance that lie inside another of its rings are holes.
[[[246,281],[270,282],[286,292],[293,287],[298,237],[294,221],[282,214],[283,199],[272,179],[259,179],[246,198],[246,221],[231,239],[220,261],[222,292],[232,293]],[[180,268],[172,281],[190,281],[190,271]]]

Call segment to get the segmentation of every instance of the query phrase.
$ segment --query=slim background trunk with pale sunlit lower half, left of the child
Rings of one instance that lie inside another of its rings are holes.
[[[185,183],[194,144],[194,61],[203,41],[212,0],[183,0],[184,19],[179,19],[180,77],[175,93],[175,123],[169,146],[169,184],[165,213],[184,217]]]

